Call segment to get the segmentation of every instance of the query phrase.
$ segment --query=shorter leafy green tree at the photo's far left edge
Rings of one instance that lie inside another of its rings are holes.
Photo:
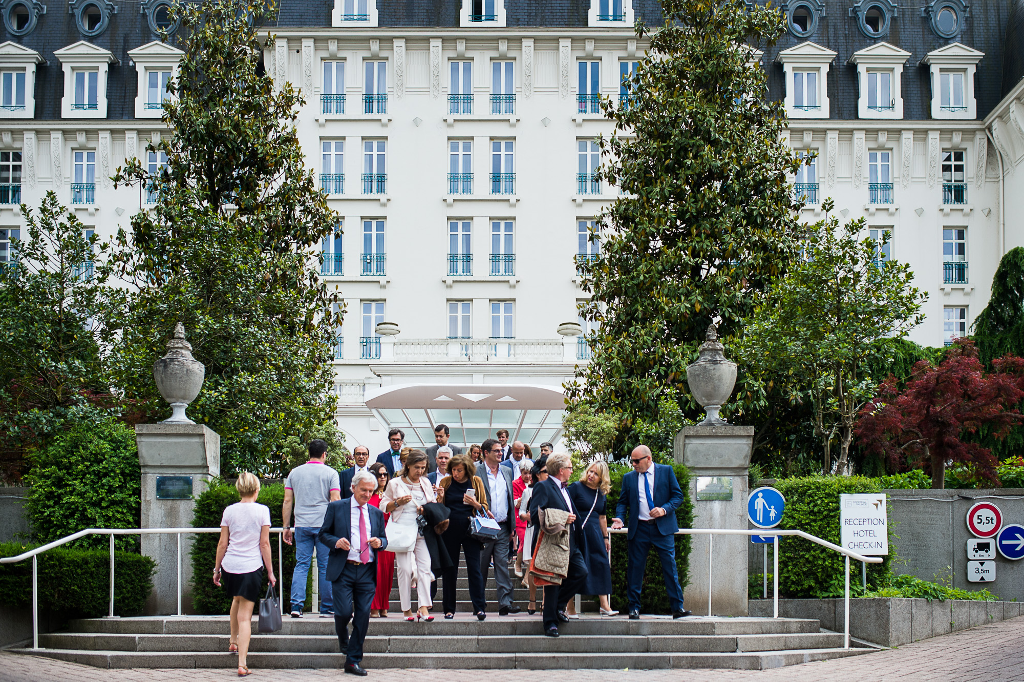
[[[93,258],[105,248],[52,191],[27,206],[24,240],[0,264],[0,478],[17,480],[26,454],[70,423],[115,411],[100,363],[105,287]]]

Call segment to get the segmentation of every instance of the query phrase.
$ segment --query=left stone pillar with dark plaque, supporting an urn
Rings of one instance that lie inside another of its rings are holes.
[[[206,491],[212,476],[220,475],[220,435],[201,424],[136,424],[135,442],[142,465],[142,527],[191,527],[195,498]],[[194,612],[189,553],[195,539],[181,536],[182,613]],[[142,554],[157,562],[145,613],[177,613],[177,536],[143,535]]]

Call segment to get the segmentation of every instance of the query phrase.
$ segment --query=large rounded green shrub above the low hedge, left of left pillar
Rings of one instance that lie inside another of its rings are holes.
[[[134,431],[114,419],[78,424],[31,457],[26,510],[33,540],[45,544],[83,528],[139,526],[138,452]],[[122,550],[137,550],[138,536],[119,536]],[[76,547],[103,549],[108,538],[89,536]]]

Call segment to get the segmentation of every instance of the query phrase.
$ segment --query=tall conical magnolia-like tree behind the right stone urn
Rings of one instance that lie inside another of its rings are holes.
[[[738,331],[796,253],[798,229],[786,174],[800,162],[745,44],[771,44],[782,14],[742,0],[662,8],[664,28],[638,28],[651,47],[629,105],[602,103],[615,133],[601,139],[598,175],[626,194],[600,219],[601,256],[580,264],[596,303],[584,314],[600,329],[568,387],[626,425],[656,420],[662,391],[684,388],[710,322],[721,318],[724,337]]]

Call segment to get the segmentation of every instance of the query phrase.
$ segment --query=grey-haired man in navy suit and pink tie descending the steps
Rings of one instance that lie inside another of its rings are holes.
[[[387,547],[384,514],[370,504],[377,479],[368,471],[352,477],[352,497],[327,506],[319,541],[331,548],[327,579],[334,593],[334,630],[345,652],[345,672],[365,676],[362,642],[370,627],[370,605],[377,592],[377,550]],[[354,615],[354,617],[353,617]],[[348,636],[348,622],[352,635]]]

